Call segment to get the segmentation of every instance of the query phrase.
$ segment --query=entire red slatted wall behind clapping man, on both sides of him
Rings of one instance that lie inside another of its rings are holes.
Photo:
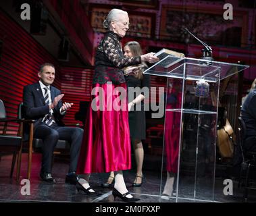
[[[80,101],[89,101],[93,70],[84,68],[60,68],[59,63],[28,32],[14,20],[0,12],[0,40],[3,49],[0,62],[0,99],[5,104],[7,117],[17,117],[22,102],[23,87],[39,80],[39,65],[50,62],[55,65],[53,86],[65,94],[63,101],[74,103],[64,122],[76,124],[75,113]],[[0,125],[0,130],[3,127]],[[17,124],[9,124],[8,134],[16,134]]]

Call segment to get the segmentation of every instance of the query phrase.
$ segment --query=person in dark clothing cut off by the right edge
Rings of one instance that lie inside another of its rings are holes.
[[[245,151],[256,152],[256,86],[251,90],[242,104],[242,119],[245,121]]]

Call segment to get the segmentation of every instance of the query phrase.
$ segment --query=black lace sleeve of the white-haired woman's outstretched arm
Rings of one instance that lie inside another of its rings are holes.
[[[107,37],[103,42],[103,51],[109,61],[118,68],[124,68],[130,65],[136,65],[141,62],[140,57],[124,57],[120,55],[121,48],[117,46],[111,37]],[[121,51],[122,52],[122,51]]]

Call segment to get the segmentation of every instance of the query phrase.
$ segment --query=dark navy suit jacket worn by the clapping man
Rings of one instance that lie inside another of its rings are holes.
[[[60,90],[50,86],[51,90],[51,101],[54,100],[59,94]],[[28,119],[35,119],[34,128],[42,121],[43,117],[49,113],[49,105],[45,104],[45,99],[43,97],[43,92],[39,82],[30,84],[24,87],[23,90],[23,104],[24,104],[24,114]],[[55,121],[59,126],[63,126],[61,119],[64,115],[59,113],[60,108],[62,107],[62,101],[59,101],[57,106],[53,109],[53,115]]]

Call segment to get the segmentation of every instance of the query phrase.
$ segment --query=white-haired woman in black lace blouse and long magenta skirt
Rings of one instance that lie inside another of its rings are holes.
[[[84,174],[84,178],[80,178],[78,190],[96,194],[88,184],[89,174],[116,171],[113,196],[134,202],[138,199],[128,192],[122,175],[122,170],[131,168],[126,80],[122,68],[142,61],[154,63],[158,59],[153,53],[124,56],[120,39],[129,28],[126,11],[112,9],[103,26],[108,31],[95,56],[93,98],[77,167],[77,173]]]

